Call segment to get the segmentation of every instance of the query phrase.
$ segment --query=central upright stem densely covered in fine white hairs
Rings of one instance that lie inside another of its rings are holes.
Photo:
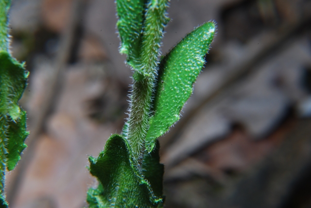
[[[127,124],[127,139],[133,152],[133,159],[141,167],[145,151],[145,137],[149,129],[150,105],[163,30],[168,22],[166,9],[168,0],[150,0],[147,5],[140,49],[140,70],[133,75],[130,116]]]

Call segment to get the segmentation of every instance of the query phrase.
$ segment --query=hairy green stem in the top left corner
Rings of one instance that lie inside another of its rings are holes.
[[[8,50],[8,10],[10,7],[10,0],[0,0],[0,51]]]

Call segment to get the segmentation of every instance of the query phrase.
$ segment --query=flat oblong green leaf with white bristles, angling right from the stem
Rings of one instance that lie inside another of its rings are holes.
[[[180,111],[203,68],[204,56],[214,34],[215,24],[207,22],[193,30],[162,58],[153,103],[155,113],[149,121],[150,128],[146,135],[148,152],[154,149],[156,139],[179,120]]]

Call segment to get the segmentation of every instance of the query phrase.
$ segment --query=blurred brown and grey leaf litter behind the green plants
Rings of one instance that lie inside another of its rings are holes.
[[[217,22],[182,118],[160,138],[166,208],[311,208],[311,0],[171,0],[165,54]],[[131,71],[113,0],[12,0],[28,113],[11,208],[83,208],[87,156],[120,133]]]

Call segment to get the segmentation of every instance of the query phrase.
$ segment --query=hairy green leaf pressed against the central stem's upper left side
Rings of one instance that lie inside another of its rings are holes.
[[[127,55],[127,63],[138,68],[140,36],[147,0],[117,0],[117,27],[121,39],[120,53]]]

